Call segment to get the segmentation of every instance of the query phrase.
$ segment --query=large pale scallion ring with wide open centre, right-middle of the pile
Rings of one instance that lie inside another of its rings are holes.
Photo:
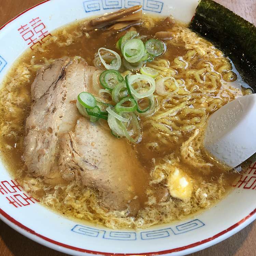
[[[151,94],[154,93],[156,89],[155,80],[152,77],[147,75],[143,75],[143,74],[128,75],[125,77],[125,81],[126,81],[126,87],[128,89],[129,94],[137,99],[143,99],[150,96]],[[143,91],[143,93],[140,93],[139,91],[134,89],[132,86],[134,83],[140,82],[140,81],[145,81],[150,85],[150,88],[147,91]]]

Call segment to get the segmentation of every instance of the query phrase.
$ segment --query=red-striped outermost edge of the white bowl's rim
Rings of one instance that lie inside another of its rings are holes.
[[[15,17],[13,17],[12,19],[10,19],[8,22],[6,22],[5,24],[3,24],[0,27],[0,31],[9,23],[13,22],[16,18],[18,18],[19,16],[23,15],[24,13],[30,11],[31,9],[34,9],[35,7],[44,4],[48,1],[51,0],[44,0],[38,4],[35,4],[33,6],[31,6],[30,8],[28,8],[27,10],[19,13],[18,15],[16,15]],[[11,228],[13,228],[14,230],[16,230],[17,232],[19,232],[20,234],[24,235],[25,237],[41,244],[44,246],[47,246],[49,248],[52,248],[53,250],[62,252],[62,253],[67,253],[67,250],[69,253],[71,253],[72,255],[77,255],[77,253],[86,253],[86,254],[95,254],[95,255],[104,255],[104,256],[111,256],[111,255],[116,255],[116,256],[129,256],[129,255],[147,255],[147,256],[151,256],[151,255],[163,255],[163,254],[171,254],[171,253],[182,253],[184,252],[185,254],[179,254],[179,255],[187,255],[190,253],[194,253],[200,250],[203,250],[207,247],[210,247],[214,244],[217,244],[231,236],[233,236],[235,233],[239,232],[240,230],[242,230],[244,227],[246,227],[247,225],[249,225],[250,223],[252,223],[255,219],[256,219],[256,208],[249,213],[247,216],[245,216],[244,218],[242,218],[239,222],[233,224],[232,226],[230,226],[229,228],[215,234],[212,237],[206,238],[204,240],[192,243],[192,244],[188,244],[186,246],[182,246],[182,247],[177,247],[177,248],[172,248],[169,250],[164,250],[164,251],[158,251],[158,252],[146,252],[146,253],[131,253],[131,254],[127,254],[127,253],[106,253],[106,252],[99,252],[99,251],[91,251],[91,250],[87,250],[87,249],[83,249],[83,248],[79,248],[79,247],[74,247],[68,244],[64,244],[64,243],[60,243],[58,241],[52,240],[50,238],[47,238],[37,232],[35,232],[34,230],[28,228],[27,226],[23,225],[22,223],[16,221],[16,219],[14,219],[12,216],[10,216],[9,214],[7,214],[6,212],[4,212],[1,207],[0,207],[0,219],[7,224],[8,226],[10,226]],[[186,251],[186,252],[185,252]]]

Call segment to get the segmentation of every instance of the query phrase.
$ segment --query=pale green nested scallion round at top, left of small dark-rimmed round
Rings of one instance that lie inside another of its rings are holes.
[[[127,41],[123,48],[124,58],[130,62],[138,62],[145,54],[145,47],[143,42],[138,38],[133,38]]]

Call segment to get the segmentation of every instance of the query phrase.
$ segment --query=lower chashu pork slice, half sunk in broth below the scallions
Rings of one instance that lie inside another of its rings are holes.
[[[59,138],[59,146],[63,177],[73,173],[85,186],[99,190],[106,207],[124,210],[132,199],[143,203],[147,173],[133,147],[108,127],[81,117],[74,132]]]

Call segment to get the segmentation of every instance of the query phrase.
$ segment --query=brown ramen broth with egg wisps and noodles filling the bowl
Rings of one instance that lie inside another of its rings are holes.
[[[172,33],[171,39],[164,40],[166,52],[146,66],[159,71],[156,81],[173,76],[180,89],[172,93],[175,84],[167,81],[169,94],[155,93],[154,115],[140,116],[141,142],[127,142],[145,171],[136,170],[138,176],[144,175],[136,185],[143,204],[133,212],[109,210],[101,203],[98,189],[83,187],[61,176],[46,179],[28,173],[23,161],[25,121],[30,113],[30,89],[37,69],[63,56],[80,56],[93,65],[98,49],[117,51],[116,42],[126,31],[99,29],[83,33],[81,23],[74,23],[56,30],[42,46],[29,49],[18,58],[2,84],[1,153],[13,177],[42,204],[66,216],[112,228],[144,228],[208,209],[236,182],[239,173],[227,171],[203,153],[202,137],[211,113],[230,100],[251,93],[251,89],[221,51],[183,24],[170,21],[143,16],[142,25],[134,27],[147,39],[159,31]],[[104,120],[99,125],[108,126]]]

